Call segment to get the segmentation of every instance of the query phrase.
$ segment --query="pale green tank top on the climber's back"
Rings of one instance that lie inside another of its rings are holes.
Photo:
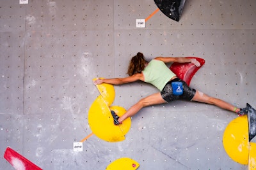
[[[142,71],[144,81],[157,87],[160,91],[163,90],[164,85],[176,76],[161,60],[151,60],[148,66]]]

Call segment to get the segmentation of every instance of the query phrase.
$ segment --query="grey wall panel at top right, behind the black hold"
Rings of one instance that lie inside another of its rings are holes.
[[[158,11],[146,23],[150,29],[255,29],[255,1],[186,1],[179,22]],[[136,18],[157,9],[152,1],[116,1],[116,29],[136,29]],[[146,28],[146,29],[147,29]]]

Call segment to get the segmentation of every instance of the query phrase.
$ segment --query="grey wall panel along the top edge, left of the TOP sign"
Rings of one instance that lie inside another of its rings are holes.
[[[113,0],[31,1],[26,9],[29,31],[113,29]]]

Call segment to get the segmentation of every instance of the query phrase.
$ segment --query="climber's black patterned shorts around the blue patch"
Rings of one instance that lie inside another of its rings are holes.
[[[182,87],[183,87],[182,95],[177,96],[173,94],[172,82],[175,82],[175,81],[182,82]],[[177,99],[185,99],[185,100],[191,101],[195,96],[195,94],[196,94],[196,90],[190,88],[185,81],[180,80],[179,78],[175,78],[172,81],[168,81],[168,83],[166,83],[166,85],[164,86],[164,89],[161,91],[161,96],[163,97],[164,101],[168,103],[171,101],[175,101]]]

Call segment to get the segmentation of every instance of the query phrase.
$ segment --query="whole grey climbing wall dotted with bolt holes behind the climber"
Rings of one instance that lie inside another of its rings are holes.
[[[132,117],[124,141],[108,143],[92,134],[88,111],[99,96],[92,79],[127,76],[137,52],[201,57],[191,87],[256,108],[255,8],[253,0],[186,1],[176,22],[153,0],[2,2],[1,169],[13,169],[7,146],[42,169],[106,169],[121,157],[139,169],[247,169],[223,148],[232,112],[186,101],[150,106]],[[140,82],[118,85],[114,104],[128,109],[154,92]],[[74,152],[79,141],[83,152]]]

